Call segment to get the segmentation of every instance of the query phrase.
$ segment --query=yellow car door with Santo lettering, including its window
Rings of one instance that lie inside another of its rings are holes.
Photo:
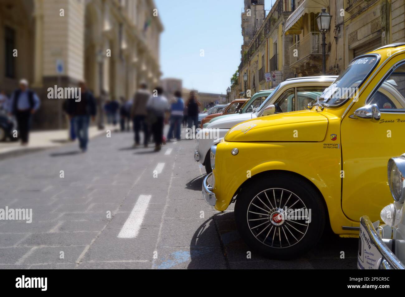
[[[381,209],[392,202],[387,163],[405,153],[404,97],[405,54],[401,54],[382,67],[341,122],[343,171],[336,174],[342,180],[342,210],[354,221],[362,215],[377,221]],[[377,104],[381,117],[354,118],[353,112],[368,103]]]

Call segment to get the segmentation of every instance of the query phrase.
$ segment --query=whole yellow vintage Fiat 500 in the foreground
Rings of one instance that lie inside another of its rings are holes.
[[[239,233],[267,257],[307,252],[327,221],[357,237],[360,217],[376,221],[390,202],[386,160],[405,147],[404,96],[405,43],[356,57],[308,110],[232,127],[211,147],[205,200],[218,211],[236,202]]]

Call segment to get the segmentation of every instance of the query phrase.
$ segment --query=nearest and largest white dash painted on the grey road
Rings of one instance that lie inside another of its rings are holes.
[[[117,236],[118,238],[135,238],[138,236],[139,229],[141,229],[143,217],[145,217],[151,197],[151,195],[139,196],[138,201],[136,201],[128,219],[126,220],[124,226],[122,226],[122,229]]]

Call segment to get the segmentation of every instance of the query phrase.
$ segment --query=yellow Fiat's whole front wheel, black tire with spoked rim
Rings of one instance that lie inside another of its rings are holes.
[[[277,215],[284,203],[288,209],[306,208],[310,220]],[[325,213],[322,197],[309,181],[281,172],[252,177],[238,194],[234,211],[243,240],[252,250],[272,259],[292,259],[313,248],[324,231]]]

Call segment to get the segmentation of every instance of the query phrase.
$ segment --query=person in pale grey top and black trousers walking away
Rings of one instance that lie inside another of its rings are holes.
[[[154,118],[152,121],[152,131],[153,139],[155,141],[155,152],[158,152],[162,148],[163,141],[163,128],[164,123],[166,122],[167,114],[169,112],[169,103],[166,97],[163,96],[163,88],[158,86],[155,88],[157,96],[149,97],[146,108],[152,114],[151,118]]]

